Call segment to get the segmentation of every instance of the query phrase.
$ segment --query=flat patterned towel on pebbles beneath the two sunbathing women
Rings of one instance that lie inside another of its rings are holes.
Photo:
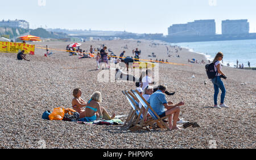
[[[123,122],[120,119],[113,120],[94,120],[94,121],[85,121],[86,119],[80,119],[77,123],[89,124],[89,125],[121,125]]]

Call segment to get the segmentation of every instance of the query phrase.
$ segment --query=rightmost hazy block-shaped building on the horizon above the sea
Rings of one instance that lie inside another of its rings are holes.
[[[222,20],[222,35],[249,33],[249,22],[247,19]]]

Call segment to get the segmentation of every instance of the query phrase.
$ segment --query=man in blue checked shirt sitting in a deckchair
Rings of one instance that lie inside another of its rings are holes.
[[[179,119],[180,108],[179,106],[183,106],[184,102],[180,103],[172,103],[167,102],[166,96],[164,92],[167,90],[166,86],[160,85],[158,90],[155,91],[147,102],[150,104],[152,109],[159,115],[159,117],[169,116],[169,128],[172,129],[180,129],[177,127],[177,120]],[[173,123],[172,123],[172,120]]]

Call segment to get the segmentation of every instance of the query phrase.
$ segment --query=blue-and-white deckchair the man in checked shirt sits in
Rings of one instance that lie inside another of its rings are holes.
[[[160,118],[155,113],[155,111],[152,109],[150,104],[148,104],[148,102],[143,98],[143,96],[137,90],[131,90],[131,92],[139,100],[139,102],[141,102],[142,106],[146,109],[146,113],[148,113],[152,117],[152,119],[147,120],[147,121],[144,121],[144,119],[143,119],[143,121],[142,121],[143,126],[146,126],[151,123],[157,123],[160,128],[166,128],[167,130],[170,130],[170,128],[168,128],[167,125],[163,122],[163,119],[166,119],[167,117],[169,117],[171,115],[167,115],[167,116]],[[146,117],[145,115],[143,115],[143,116]]]

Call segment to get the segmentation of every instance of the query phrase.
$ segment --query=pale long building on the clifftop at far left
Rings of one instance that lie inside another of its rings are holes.
[[[2,20],[0,21],[0,27],[15,27],[29,29],[30,24],[25,20]]]

